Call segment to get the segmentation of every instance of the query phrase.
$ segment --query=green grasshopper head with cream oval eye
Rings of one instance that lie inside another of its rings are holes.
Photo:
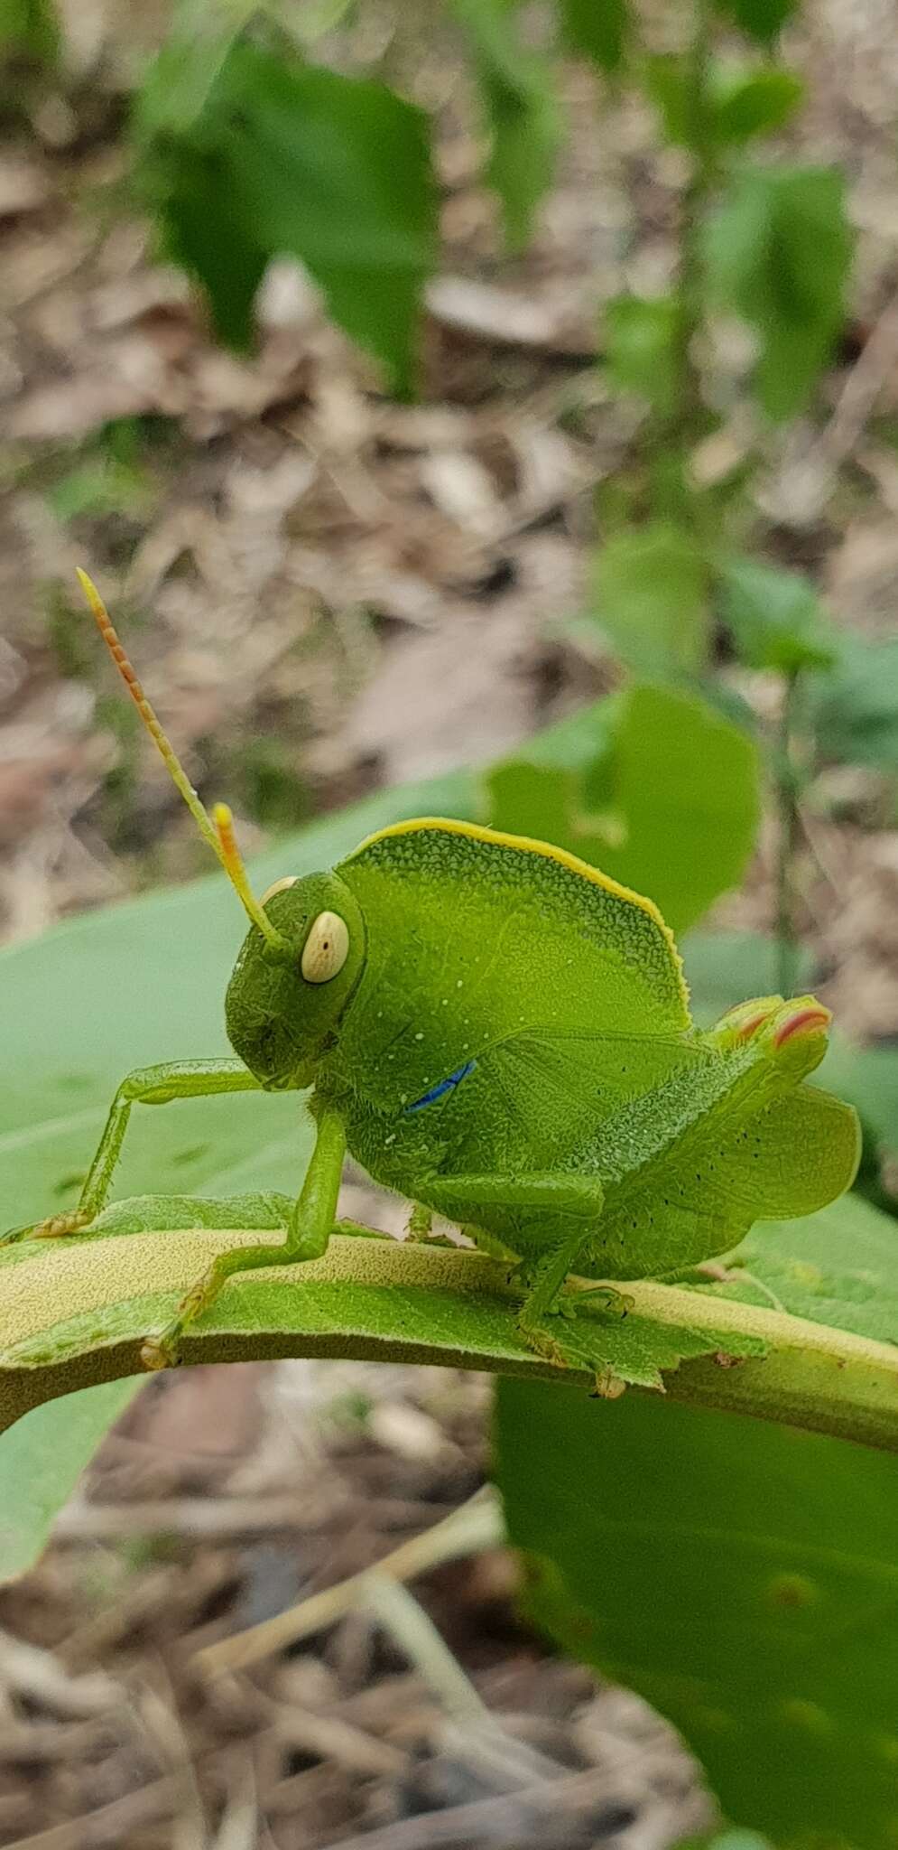
[[[310,1086],[362,973],[362,912],[334,873],[277,881],[261,905],[279,944],[255,925],[244,938],[227,984],[227,1038],[262,1086]]]

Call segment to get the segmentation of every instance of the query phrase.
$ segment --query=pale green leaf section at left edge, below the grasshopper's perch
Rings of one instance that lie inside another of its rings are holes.
[[[139,1380],[98,1382],[67,1400],[31,1408],[0,1441],[0,1582],[24,1574],[41,1554],[61,1506]]]

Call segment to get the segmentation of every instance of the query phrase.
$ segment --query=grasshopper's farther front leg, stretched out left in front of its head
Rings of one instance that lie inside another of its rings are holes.
[[[52,1214],[46,1221],[31,1227],[17,1227],[0,1236],[0,1243],[13,1240],[54,1240],[63,1234],[79,1234],[91,1227],[109,1201],[115,1166],[122,1154],[127,1119],[135,1104],[170,1104],[174,1099],[212,1099],[224,1092],[259,1092],[259,1080],[246,1069],[242,1060],[166,1060],[161,1066],[137,1067],[118,1086],[113,1099],[103,1134],[96,1145],[94,1160],[87,1171],[78,1208],[68,1214]]]

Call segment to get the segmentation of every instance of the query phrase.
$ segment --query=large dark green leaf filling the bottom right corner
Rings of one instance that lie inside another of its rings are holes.
[[[724,1813],[783,1850],[891,1850],[892,1462],[523,1382],[499,1388],[497,1454],[530,1615],[671,1717]]]

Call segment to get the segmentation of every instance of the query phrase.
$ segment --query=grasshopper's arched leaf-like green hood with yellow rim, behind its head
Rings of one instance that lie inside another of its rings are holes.
[[[541,1092],[543,1116],[573,1101],[578,1116],[588,1093],[613,1104],[678,1058],[691,1021],[671,932],[649,899],[573,855],[423,820],[371,836],[338,873],[368,932],[340,1051],[381,1108],[475,1060],[497,1092]],[[667,1045],[650,1051],[656,1040]]]

